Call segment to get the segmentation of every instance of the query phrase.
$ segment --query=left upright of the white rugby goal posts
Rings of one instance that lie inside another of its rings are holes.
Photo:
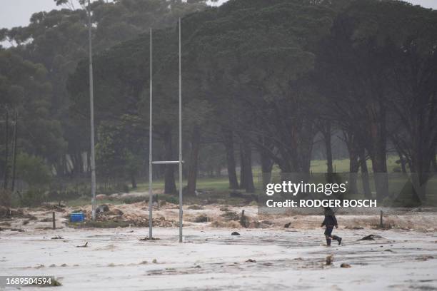
[[[152,237],[152,31],[150,29],[150,98],[149,98],[149,239]]]

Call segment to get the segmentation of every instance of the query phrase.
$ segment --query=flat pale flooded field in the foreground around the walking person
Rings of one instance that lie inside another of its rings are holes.
[[[183,243],[177,228],[3,231],[0,273],[53,275],[56,290],[437,290],[436,231],[336,233],[344,244],[326,247],[320,228],[197,225]]]

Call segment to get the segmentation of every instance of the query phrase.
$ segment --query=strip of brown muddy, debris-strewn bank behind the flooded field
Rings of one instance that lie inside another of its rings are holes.
[[[11,209],[9,215],[0,218],[0,230],[34,230],[51,228],[52,213],[56,214],[56,228],[80,227],[69,224],[69,215],[83,212],[86,221],[91,220],[91,205],[69,208],[64,205],[44,205],[40,208]],[[146,202],[131,204],[106,204],[104,211],[97,215],[99,224],[82,225],[88,227],[139,227],[149,226],[149,205]],[[258,215],[256,206],[236,207],[231,205],[184,205],[184,226],[193,228],[263,228],[263,229],[313,229],[319,228],[323,218],[318,215],[287,216]],[[437,230],[437,215],[397,215],[384,216],[384,228],[418,230],[432,232]],[[375,215],[339,215],[340,228],[359,230],[361,228],[379,228],[379,214]],[[160,202],[154,205],[156,227],[179,226],[179,205]]]

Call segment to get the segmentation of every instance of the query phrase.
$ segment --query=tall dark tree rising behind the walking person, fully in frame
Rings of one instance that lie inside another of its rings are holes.
[[[388,194],[386,177],[386,86],[388,70],[386,49],[376,39],[356,37],[361,26],[357,14],[364,15],[375,1],[356,2],[339,14],[331,34],[323,41],[319,55],[321,67],[326,66],[328,102],[335,107],[346,128],[351,154],[351,173],[358,171],[358,155],[365,147],[371,156],[378,198]]]

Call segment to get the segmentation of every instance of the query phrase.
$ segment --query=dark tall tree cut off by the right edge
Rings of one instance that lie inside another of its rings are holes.
[[[407,160],[416,199],[425,203],[437,147],[437,14],[406,4],[396,8],[408,25],[391,46],[388,104],[398,124],[392,139],[401,163]],[[386,29],[389,34],[393,28]]]

